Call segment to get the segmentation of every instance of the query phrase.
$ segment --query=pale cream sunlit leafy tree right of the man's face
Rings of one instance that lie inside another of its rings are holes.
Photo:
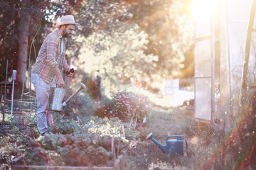
[[[86,46],[80,49],[80,60],[74,64],[82,67],[81,63],[85,63],[87,72],[97,72],[107,91],[114,91],[120,83],[129,83],[132,77],[149,80],[158,61],[156,55],[144,53],[148,35],[135,24],[123,24],[112,32],[92,33],[82,42]],[[90,63],[86,64],[88,60]]]

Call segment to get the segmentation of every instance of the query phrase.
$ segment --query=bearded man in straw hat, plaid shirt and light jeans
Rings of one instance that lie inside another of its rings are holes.
[[[31,72],[31,81],[36,90],[37,101],[37,127],[41,135],[48,132],[48,125],[52,123],[53,116],[48,111],[50,87],[64,87],[63,76],[60,73],[63,68],[68,72],[68,77],[73,77],[70,66],[65,59],[65,46],[67,38],[73,34],[75,26],[74,16],[68,15],[60,18],[57,30],[47,35],[39,50],[36,63]]]

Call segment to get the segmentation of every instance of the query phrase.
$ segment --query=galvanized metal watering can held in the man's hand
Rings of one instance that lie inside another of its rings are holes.
[[[60,87],[53,88],[52,89],[53,93],[51,93],[52,95],[50,96],[50,99],[49,99],[49,105],[50,105],[49,110],[62,112],[63,106],[66,106],[68,101],[70,101],[82,89],[85,89],[86,91],[86,86],[85,84],[80,83],[80,87],[75,91],[75,93],[72,94],[66,101],[63,102],[63,99],[65,97],[65,89]]]

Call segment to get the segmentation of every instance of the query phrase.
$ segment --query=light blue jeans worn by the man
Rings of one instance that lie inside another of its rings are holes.
[[[51,112],[48,111],[48,103],[49,103],[49,93],[50,87],[55,86],[50,84],[46,84],[39,74],[31,73],[31,82],[36,90],[36,101],[37,101],[37,110],[36,110],[36,117],[37,117],[37,127],[40,134],[44,134],[48,132],[48,122],[52,119]],[[51,115],[51,116],[50,116]],[[51,118],[50,118],[51,117]]]

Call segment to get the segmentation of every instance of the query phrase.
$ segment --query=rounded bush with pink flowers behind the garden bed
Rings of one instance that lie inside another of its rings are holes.
[[[148,115],[149,101],[146,97],[133,94],[127,91],[112,92],[108,103],[98,106],[95,110],[96,115],[100,117],[117,117],[123,122],[129,122],[131,118],[142,122],[142,119]]]

